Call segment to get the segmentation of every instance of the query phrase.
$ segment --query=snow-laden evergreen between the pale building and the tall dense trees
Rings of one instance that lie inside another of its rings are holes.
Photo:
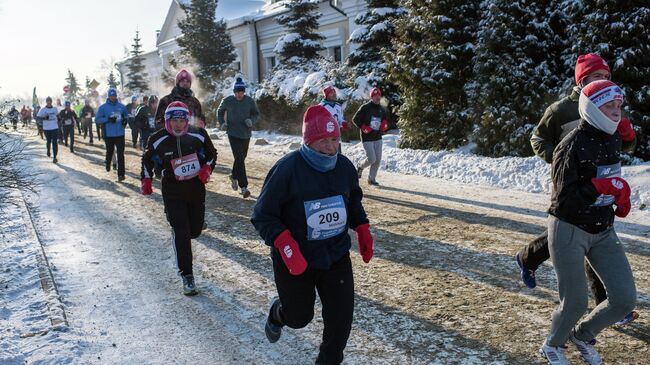
[[[355,79],[365,78],[371,86],[379,87],[391,105],[399,105],[397,86],[388,81],[386,62],[395,58],[393,39],[395,21],[406,14],[397,0],[366,0],[368,10],[359,13],[354,22],[359,25],[349,42],[357,49],[348,56]],[[359,85],[356,85],[359,87]]]

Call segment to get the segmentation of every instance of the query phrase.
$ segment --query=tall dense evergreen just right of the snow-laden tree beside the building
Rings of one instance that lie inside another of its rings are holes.
[[[472,127],[465,83],[471,74],[476,1],[407,0],[397,21],[390,81],[402,91],[403,147],[449,149],[467,143]]]

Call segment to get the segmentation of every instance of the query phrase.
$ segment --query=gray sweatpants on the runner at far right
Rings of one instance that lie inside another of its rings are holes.
[[[550,346],[564,346],[574,327],[579,340],[590,341],[634,309],[634,277],[614,228],[590,234],[550,215],[548,248],[560,294],[560,305],[553,312],[548,336]],[[576,326],[587,311],[585,257],[605,285],[607,300]]]

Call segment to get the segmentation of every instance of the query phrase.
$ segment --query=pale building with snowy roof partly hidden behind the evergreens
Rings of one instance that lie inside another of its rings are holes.
[[[143,64],[149,75],[152,90],[167,90],[162,80],[163,70],[168,67],[169,58],[179,51],[177,38],[181,35],[178,22],[185,17],[180,4],[191,0],[172,0],[167,16],[157,37],[156,48],[142,55]],[[276,64],[273,52],[278,38],[286,28],[275,18],[285,13],[286,0],[219,0],[215,17],[224,19],[235,47],[237,58],[234,67],[253,82],[259,82]],[[319,11],[319,33],[323,40],[324,56],[341,61],[352,50],[347,43],[350,33],[356,28],[354,18],[367,7],[365,0],[321,0]],[[126,74],[128,59],[117,63],[121,83],[128,82]]]

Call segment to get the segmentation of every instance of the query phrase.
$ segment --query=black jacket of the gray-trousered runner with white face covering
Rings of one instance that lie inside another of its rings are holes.
[[[601,196],[591,179],[621,174],[621,137],[581,121],[553,153],[553,193],[548,212],[589,233],[614,224],[613,198]]]

